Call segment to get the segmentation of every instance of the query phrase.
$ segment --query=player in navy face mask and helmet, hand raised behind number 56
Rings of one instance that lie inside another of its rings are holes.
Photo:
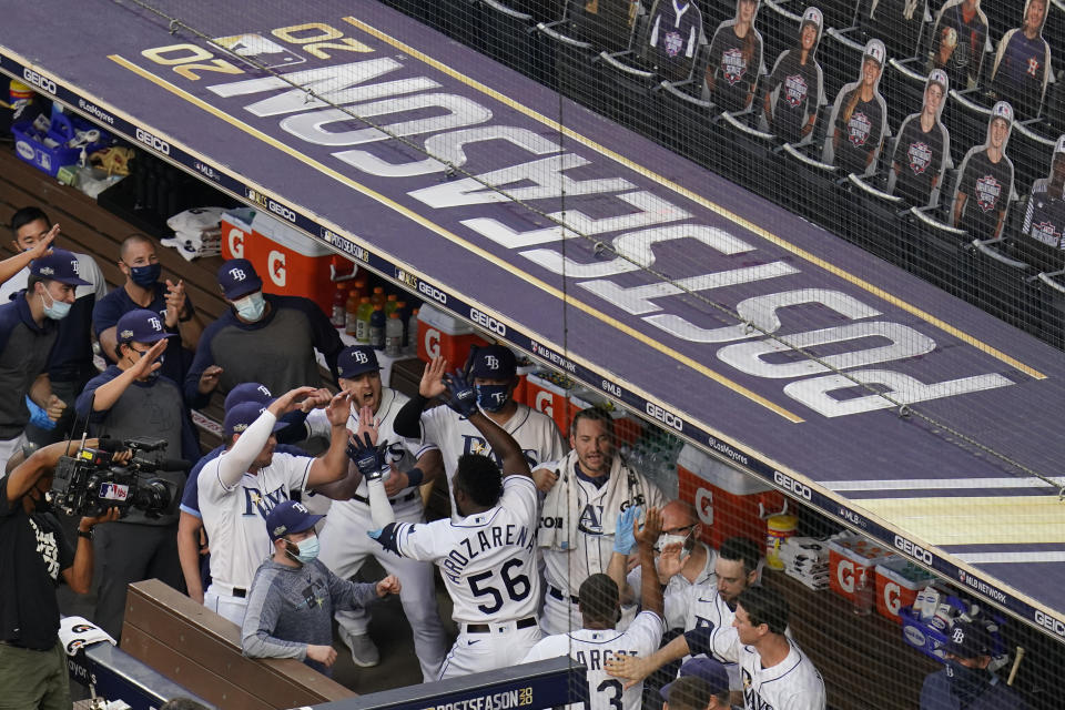
[[[501,465],[501,460],[493,453],[488,440],[466,417],[448,407],[436,407],[423,413],[430,399],[444,394],[442,377],[446,369],[447,361],[439,357],[426,365],[418,385],[418,396],[399,410],[393,426],[399,436],[419,438],[425,444],[439,447],[450,491],[452,520],[457,521],[459,515],[455,508],[455,495],[454,490],[450,490],[450,484],[459,457],[464,454],[484,454],[493,457],[497,465]],[[530,468],[566,455],[566,443],[555,422],[546,414],[514,400],[514,388],[518,384],[517,362],[510,348],[489,345],[477,349],[470,359],[466,378],[477,393],[480,412],[514,437]]]

